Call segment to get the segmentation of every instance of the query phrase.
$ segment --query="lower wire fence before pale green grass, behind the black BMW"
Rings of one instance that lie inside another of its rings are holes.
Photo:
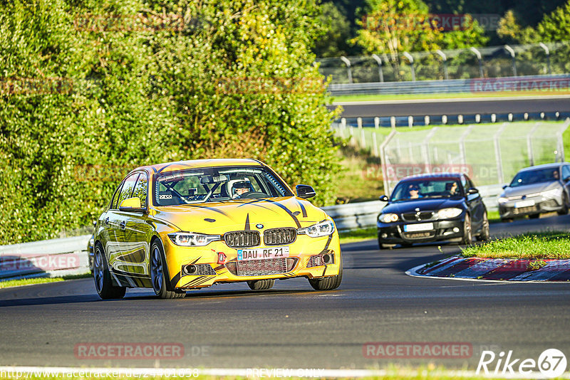
[[[564,161],[564,122],[504,122],[494,125],[400,128],[333,123],[352,144],[380,157],[385,194],[405,176],[444,171],[467,173],[477,186],[502,185],[532,165]]]

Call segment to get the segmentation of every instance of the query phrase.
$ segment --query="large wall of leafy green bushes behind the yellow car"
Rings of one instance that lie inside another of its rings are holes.
[[[253,157],[332,204],[312,1],[0,1],[0,244],[89,225],[143,164]]]

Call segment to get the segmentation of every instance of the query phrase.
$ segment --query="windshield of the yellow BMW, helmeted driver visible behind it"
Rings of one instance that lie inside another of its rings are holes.
[[[293,196],[264,167],[216,167],[155,174],[155,206]]]

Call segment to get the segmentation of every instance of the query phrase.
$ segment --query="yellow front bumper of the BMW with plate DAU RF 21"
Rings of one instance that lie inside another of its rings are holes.
[[[240,261],[238,264],[238,249],[229,248],[224,241],[214,241],[203,247],[182,247],[172,243],[168,236],[163,236],[162,242],[173,289],[192,289],[212,286],[214,283],[237,283],[250,280],[324,278],[338,275],[342,265],[341,246],[336,231],[331,236],[321,238],[297,236],[294,243],[286,245],[289,247],[289,257],[284,258],[284,262],[278,261],[281,259],[269,259],[274,261],[249,260]],[[256,248],[275,247],[261,245]],[[223,263],[219,260],[219,253],[225,255]],[[328,263],[325,263],[326,255],[332,256],[332,258],[328,257]],[[320,258],[311,258],[313,256],[320,256]],[[323,257],[325,257],[324,260]],[[257,261],[257,263],[252,263],[252,261]],[[262,261],[265,263],[261,263]],[[195,265],[200,270],[196,274],[187,274],[187,271],[183,270],[186,265]],[[242,272],[237,269],[237,265],[247,265],[248,273],[252,273],[253,268],[253,272],[257,275],[240,275]],[[283,269],[283,265],[286,265],[286,269]]]

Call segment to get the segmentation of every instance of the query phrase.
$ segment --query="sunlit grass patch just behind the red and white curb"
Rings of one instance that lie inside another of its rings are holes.
[[[568,231],[531,232],[462,249],[463,257],[570,258]]]

